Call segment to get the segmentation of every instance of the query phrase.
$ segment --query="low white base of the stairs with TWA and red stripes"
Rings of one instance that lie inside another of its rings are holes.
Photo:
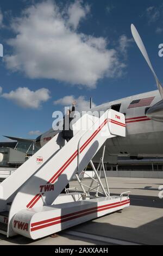
[[[14,216],[15,233],[33,240],[129,206],[128,197],[103,197],[73,203],[27,209]]]

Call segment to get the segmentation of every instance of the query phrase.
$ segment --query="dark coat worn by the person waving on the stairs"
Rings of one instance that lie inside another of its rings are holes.
[[[64,117],[64,125],[63,125],[63,131],[62,131],[62,137],[64,139],[71,139],[73,137],[73,130],[72,130],[72,125],[71,125],[71,121],[74,118],[74,111],[75,111],[75,107],[72,107],[72,113],[70,115],[65,115]],[[65,123],[68,127],[65,127]],[[66,130],[65,130],[66,128]]]

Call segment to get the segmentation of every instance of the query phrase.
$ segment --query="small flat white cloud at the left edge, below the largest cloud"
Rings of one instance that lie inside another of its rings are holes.
[[[23,108],[38,109],[43,102],[46,102],[50,98],[49,93],[49,90],[45,88],[33,92],[26,87],[19,87],[10,93],[3,93],[1,97],[14,101],[18,106]]]

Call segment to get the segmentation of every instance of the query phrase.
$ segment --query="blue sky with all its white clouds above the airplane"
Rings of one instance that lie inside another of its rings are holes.
[[[162,81],[161,2],[1,1],[0,140],[35,138],[52,127],[52,113],[73,100],[83,109],[90,96],[100,105],[156,89],[130,25]]]

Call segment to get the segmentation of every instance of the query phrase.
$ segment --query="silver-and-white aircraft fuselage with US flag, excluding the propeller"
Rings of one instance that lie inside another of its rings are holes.
[[[147,109],[160,100],[159,91],[155,90],[108,102],[91,109],[92,112],[101,112],[113,108],[126,115],[126,137],[109,139],[106,142],[108,154],[142,157],[163,156],[163,124],[146,116]],[[53,129],[43,133],[36,139],[36,147],[39,145],[42,147],[55,135],[56,131]]]

